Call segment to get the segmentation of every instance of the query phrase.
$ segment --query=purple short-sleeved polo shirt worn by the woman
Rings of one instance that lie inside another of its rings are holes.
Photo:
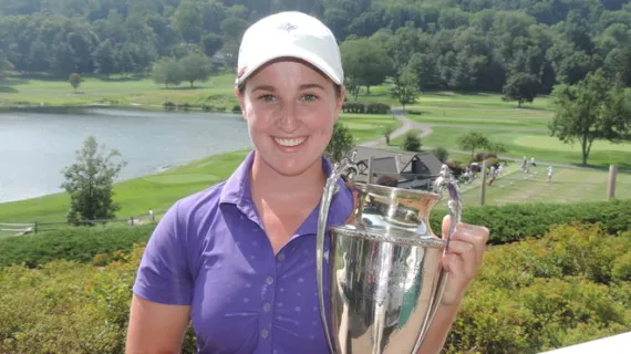
[[[169,209],[147,243],[134,293],[190,305],[199,353],[328,353],[316,283],[319,206],[275,257],[250,196],[254,154],[228,180]],[[329,175],[330,162],[322,167]],[[343,223],[352,204],[340,188],[329,226]]]

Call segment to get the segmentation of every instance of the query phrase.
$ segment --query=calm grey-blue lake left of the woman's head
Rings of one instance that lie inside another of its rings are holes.
[[[81,108],[0,113],[0,202],[61,191],[61,170],[93,135],[127,162],[118,180],[250,148],[240,115]]]

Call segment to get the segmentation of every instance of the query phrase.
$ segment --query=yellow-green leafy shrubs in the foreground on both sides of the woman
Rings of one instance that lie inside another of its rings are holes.
[[[596,226],[489,247],[443,353],[535,354],[629,331],[629,253],[631,232]],[[142,254],[0,268],[0,353],[123,353]],[[182,353],[196,353],[192,331]]]

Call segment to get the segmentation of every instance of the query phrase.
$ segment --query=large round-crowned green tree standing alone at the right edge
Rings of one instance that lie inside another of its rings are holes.
[[[555,88],[557,114],[549,124],[550,135],[561,142],[580,143],[582,164],[596,139],[619,143],[631,131],[631,92],[614,85],[602,70],[589,73],[576,85]]]

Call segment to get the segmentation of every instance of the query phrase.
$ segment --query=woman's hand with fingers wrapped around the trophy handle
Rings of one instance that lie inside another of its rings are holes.
[[[451,218],[443,219],[443,239],[447,238]],[[488,241],[488,229],[480,226],[458,223],[443,256],[443,268],[449,272],[442,305],[458,304],[476,277]]]

